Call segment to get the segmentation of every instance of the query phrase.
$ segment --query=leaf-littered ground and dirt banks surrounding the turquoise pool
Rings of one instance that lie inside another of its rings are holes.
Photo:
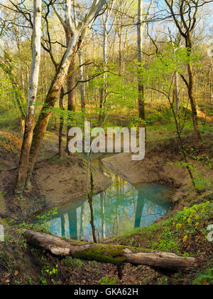
[[[175,209],[170,216],[148,228],[114,236],[105,242],[195,256],[197,267],[173,273],[125,264],[120,279],[118,268],[114,265],[71,257],[56,258],[40,248],[28,246],[23,234],[23,228],[27,226],[26,216],[44,207],[56,206],[58,198],[61,203],[84,194],[86,165],[79,157],[72,157],[71,161],[67,157],[54,157],[57,136],[52,131],[48,132],[39,157],[39,160],[45,161],[36,164],[33,189],[24,195],[21,202],[17,202],[12,196],[16,169],[8,170],[18,165],[21,136],[1,131],[0,223],[4,224],[6,236],[4,243],[0,243],[0,284],[213,284],[212,243],[207,241],[207,226],[213,224],[213,191],[209,188],[202,194],[193,192],[187,173],[175,164],[180,160],[177,140],[170,137],[170,131],[165,134],[165,127],[161,127],[161,131],[160,126],[156,127],[158,130],[154,125],[149,132],[148,140],[153,141],[148,143],[144,162],[131,162],[128,154],[118,154],[104,159],[104,164],[133,184],[154,181],[173,186],[177,189],[173,199]],[[213,179],[212,169],[206,170],[205,164],[206,157],[212,162],[213,140],[209,129],[202,133],[202,143],[195,142],[191,134],[185,141],[194,148],[196,155],[202,156],[199,162],[189,158],[202,173],[202,184],[205,184],[207,179]],[[173,164],[169,164],[171,162]],[[98,170],[96,173],[96,190],[106,189],[111,182]],[[69,182],[62,182],[67,177]],[[67,188],[65,194],[58,191],[59,185],[62,189]]]

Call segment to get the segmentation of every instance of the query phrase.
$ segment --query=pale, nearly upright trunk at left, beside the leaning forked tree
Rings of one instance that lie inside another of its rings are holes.
[[[28,172],[28,160],[33,140],[33,127],[35,122],[35,103],[38,89],[38,77],[40,70],[40,38],[41,38],[41,0],[34,0],[33,8],[33,62],[31,67],[30,88],[28,92],[28,111],[26,127],[21,148],[21,157],[18,167],[18,175],[15,193],[22,194]]]

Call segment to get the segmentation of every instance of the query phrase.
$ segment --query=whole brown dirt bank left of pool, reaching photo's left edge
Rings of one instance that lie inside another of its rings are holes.
[[[53,140],[54,142],[54,140]],[[32,188],[23,199],[13,196],[16,184],[16,166],[21,149],[21,138],[9,132],[0,132],[0,217],[19,219],[44,208],[64,204],[87,194],[87,164],[80,157],[58,157],[57,149],[45,140],[32,178]],[[50,157],[50,159],[47,159]],[[52,157],[52,158],[51,158]],[[43,161],[45,159],[45,161]],[[107,189],[111,180],[94,169],[94,190]]]

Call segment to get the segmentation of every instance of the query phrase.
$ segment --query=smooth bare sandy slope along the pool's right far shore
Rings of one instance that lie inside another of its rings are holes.
[[[170,162],[176,162],[166,154],[147,155],[143,161],[132,161],[131,154],[116,154],[102,159],[105,166],[131,184],[162,182],[173,187],[187,187],[190,184],[187,171]]]

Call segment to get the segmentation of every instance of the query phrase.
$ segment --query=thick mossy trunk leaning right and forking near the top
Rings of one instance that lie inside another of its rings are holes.
[[[71,5],[70,0],[67,0],[66,3],[67,6]],[[45,98],[45,103],[43,105],[42,110],[40,111],[38,122],[36,123],[35,129],[33,131],[33,142],[29,157],[28,177],[26,182],[27,186],[30,184],[33,167],[36,158],[38,157],[40,145],[43,141],[45,130],[48,126],[48,122],[52,114],[52,108],[55,106],[55,102],[60,94],[60,89],[62,88],[62,85],[65,83],[70,63],[72,63],[73,59],[75,58],[75,54],[80,48],[80,44],[82,43],[82,40],[84,39],[84,36],[87,33],[87,28],[89,28],[89,25],[96,18],[97,14],[99,14],[99,11],[104,6],[104,3],[105,0],[93,0],[89,13],[87,14],[87,16],[85,16],[84,20],[77,27],[75,27],[75,24],[71,19],[71,16],[66,16],[70,32],[72,33],[72,37],[70,38],[70,44],[67,47],[64,56],[62,56],[62,61],[58,65],[58,69],[50,85],[48,95]],[[66,14],[69,14],[68,9],[66,10]]]

